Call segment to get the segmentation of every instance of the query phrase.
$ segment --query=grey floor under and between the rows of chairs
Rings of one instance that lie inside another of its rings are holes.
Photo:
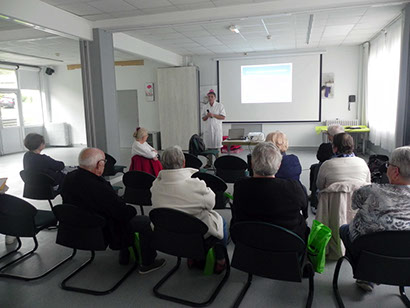
[[[52,148],[46,149],[45,153],[63,160],[67,165],[75,165],[80,148]],[[302,182],[308,187],[309,166],[316,161],[315,149],[291,149],[289,153],[296,154],[302,164]],[[240,154],[246,157],[247,151]],[[0,177],[9,177],[9,193],[21,196],[23,184],[19,177],[22,169],[23,154],[13,154],[0,157]],[[119,163],[128,166],[130,161],[130,150],[123,149]],[[121,178],[113,179],[113,182],[120,181]],[[232,187],[230,187],[232,189]],[[61,200],[56,199],[55,204]],[[30,201],[37,208],[48,208],[46,202]],[[230,220],[229,210],[219,211],[224,218]],[[312,217],[309,218],[311,223]],[[43,231],[39,234],[40,248],[38,253],[23,266],[14,269],[15,272],[39,273],[42,269],[58,262],[70,253],[70,250],[55,244],[55,231]],[[27,244],[23,250],[31,247],[29,240],[24,240]],[[0,236],[0,255],[6,249],[4,237]],[[233,252],[233,244],[228,246],[230,255]],[[97,297],[92,295],[78,294],[63,291],[58,284],[63,277],[67,276],[84,261],[88,254],[80,252],[74,261],[65,264],[46,278],[33,282],[22,282],[0,278],[0,307],[1,308],[40,308],[40,307],[181,307],[179,304],[166,302],[154,297],[152,287],[175,263],[175,259],[160,254],[167,259],[165,268],[150,273],[140,275],[137,272],[132,274],[125,283],[114,293]],[[315,276],[315,297],[313,307],[335,307],[332,293],[332,276],[335,262],[328,262],[323,274]],[[79,279],[73,283],[82,286],[107,287],[121,271],[125,269],[117,265],[117,252],[106,251],[97,252],[96,262]],[[188,271],[185,264],[181,267],[181,273],[169,282],[164,288],[164,292],[175,295],[186,296],[193,300],[203,299],[213,286],[219,276],[202,276],[199,272]],[[246,274],[232,269],[231,276],[222,289],[220,295],[210,307],[231,307],[235,297],[246,281]],[[346,264],[342,266],[339,279],[339,286],[345,301],[346,307],[403,307],[398,297],[398,288],[390,286],[378,286],[371,294],[366,294],[354,285],[350,267]],[[241,307],[304,307],[307,296],[308,283],[288,283],[273,281],[269,279],[255,277],[252,286],[245,296]]]

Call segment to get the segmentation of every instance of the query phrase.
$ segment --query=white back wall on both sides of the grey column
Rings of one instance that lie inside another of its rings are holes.
[[[149,131],[159,131],[158,101],[145,100],[145,82],[154,82],[155,96],[157,72],[162,64],[145,60],[143,66],[117,66],[115,68],[117,90],[138,91],[139,125]],[[71,125],[72,142],[86,144],[85,115],[81,81],[81,70],[68,71],[66,66],[55,66],[49,76],[51,117],[53,122]]]

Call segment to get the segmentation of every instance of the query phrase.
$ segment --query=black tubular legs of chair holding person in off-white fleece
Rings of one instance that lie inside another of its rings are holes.
[[[165,284],[165,282],[178,270],[178,268],[181,265],[181,257],[178,257],[178,261],[177,264],[155,285],[154,287],[154,294],[156,297],[159,297],[161,299],[164,300],[168,300],[171,302],[175,302],[175,303],[179,303],[179,304],[183,304],[183,305],[187,305],[187,306],[192,306],[192,307],[205,307],[210,305],[216,298],[216,296],[219,294],[219,292],[221,291],[223,285],[225,284],[225,282],[228,280],[230,272],[231,272],[231,266],[229,263],[229,256],[228,256],[228,252],[225,248],[224,250],[224,255],[225,255],[225,260],[226,260],[226,270],[225,270],[225,275],[222,278],[222,280],[219,282],[218,286],[215,288],[214,292],[211,294],[211,296],[204,302],[191,302],[182,298],[178,298],[178,297],[174,297],[174,296],[170,296],[170,295],[166,295],[163,293],[160,293],[158,290],[159,288]]]

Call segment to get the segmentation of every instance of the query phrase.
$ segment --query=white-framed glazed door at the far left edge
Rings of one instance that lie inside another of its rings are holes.
[[[1,155],[24,151],[17,91],[0,91]]]

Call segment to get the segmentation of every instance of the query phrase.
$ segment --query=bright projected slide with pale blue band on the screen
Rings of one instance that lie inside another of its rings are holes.
[[[292,102],[292,63],[241,66],[241,102]]]

